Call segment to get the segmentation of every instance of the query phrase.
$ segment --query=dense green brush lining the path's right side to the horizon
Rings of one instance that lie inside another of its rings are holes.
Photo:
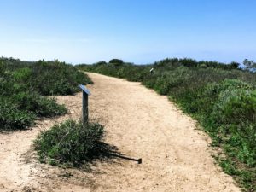
[[[151,65],[133,65],[113,59],[81,70],[142,82],[166,95],[197,119],[212,137],[212,146],[224,172],[247,191],[256,190],[256,73],[253,61],[230,64],[192,59],[166,59]],[[151,68],[154,73],[149,73]]]

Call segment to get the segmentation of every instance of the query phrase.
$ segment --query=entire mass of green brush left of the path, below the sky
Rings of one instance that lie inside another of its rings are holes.
[[[0,130],[26,129],[37,118],[66,113],[45,96],[74,94],[87,83],[84,73],[64,62],[0,58]]]

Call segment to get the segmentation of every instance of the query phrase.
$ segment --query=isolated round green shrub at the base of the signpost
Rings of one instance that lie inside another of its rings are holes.
[[[103,135],[102,125],[67,120],[43,131],[35,140],[35,148],[42,162],[79,166],[102,153]]]

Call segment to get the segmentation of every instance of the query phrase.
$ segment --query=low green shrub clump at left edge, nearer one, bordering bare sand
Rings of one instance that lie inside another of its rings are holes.
[[[19,92],[13,96],[0,96],[0,129],[26,129],[37,117],[54,117],[67,113],[64,105],[54,98],[34,93]]]

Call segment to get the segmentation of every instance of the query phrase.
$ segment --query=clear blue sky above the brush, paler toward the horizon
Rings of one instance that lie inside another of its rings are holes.
[[[0,56],[256,60],[255,0],[0,0]]]

